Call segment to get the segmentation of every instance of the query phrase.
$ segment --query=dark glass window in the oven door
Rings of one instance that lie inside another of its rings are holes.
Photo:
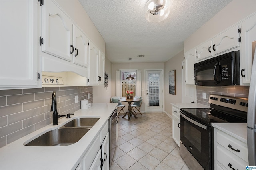
[[[184,122],[184,137],[188,139],[199,152],[201,152],[202,146],[201,136],[202,133],[198,129],[191,127],[187,122]]]

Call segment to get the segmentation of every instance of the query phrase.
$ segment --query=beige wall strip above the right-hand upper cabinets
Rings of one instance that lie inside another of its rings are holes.
[[[184,41],[184,52],[256,12],[256,0],[233,0]]]

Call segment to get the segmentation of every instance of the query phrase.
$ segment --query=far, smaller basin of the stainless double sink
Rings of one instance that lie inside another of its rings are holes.
[[[64,127],[82,127],[91,128],[100,118],[96,117],[82,117],[76,118],[64,125]]]

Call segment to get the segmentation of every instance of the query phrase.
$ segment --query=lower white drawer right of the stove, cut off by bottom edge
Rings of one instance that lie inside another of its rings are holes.
[[[218,157],[215,161],[217,161],[217,164],[222,164],[222,168],[225,167],[226,169],[231,170],[231,168],[228,166],[230,164],[230,166],[236,170],[243,170],[246,166],[248,166],[247,162],[232,154],[222,146],[217,145],[216,147]]]

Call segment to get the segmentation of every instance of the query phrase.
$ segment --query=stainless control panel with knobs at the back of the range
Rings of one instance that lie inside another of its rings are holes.
[[[210,94],[209,103],[247,112],[248,98]]]

